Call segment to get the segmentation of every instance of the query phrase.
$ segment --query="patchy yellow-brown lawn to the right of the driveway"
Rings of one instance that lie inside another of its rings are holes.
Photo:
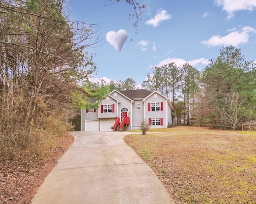
[[[256,203],[256,133],[174,127],[124,141],[177,204]]]

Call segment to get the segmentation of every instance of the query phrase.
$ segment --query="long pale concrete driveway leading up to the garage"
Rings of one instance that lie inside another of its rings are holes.
[[[32,204],[174,204],[123,132],[70,132],[74,143]]]

